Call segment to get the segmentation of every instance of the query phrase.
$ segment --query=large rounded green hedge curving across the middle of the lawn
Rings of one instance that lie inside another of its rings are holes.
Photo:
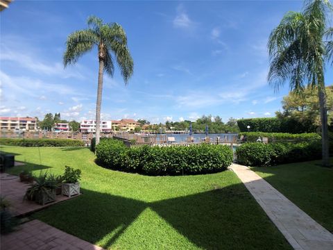
[[[118,140],[101,140],[97,162],[110,169],[148,175],[207,174],[221,172],[232,163],[232,149],[223,145],[189,147],[131,147]]]

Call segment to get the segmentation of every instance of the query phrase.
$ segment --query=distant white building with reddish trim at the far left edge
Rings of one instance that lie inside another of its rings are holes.
[[[0,117],[1,131],[37,131],[37,119],[32,117]]]

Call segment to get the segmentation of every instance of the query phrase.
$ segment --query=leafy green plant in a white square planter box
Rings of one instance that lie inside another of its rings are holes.
[[[65,174],[63,175],[64,183],[62,183],[62,194],[71,197],[80,194],[81,170],[65,166]]]

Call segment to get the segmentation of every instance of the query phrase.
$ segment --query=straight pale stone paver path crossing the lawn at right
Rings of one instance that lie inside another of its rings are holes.
[[[248,167],[230,167],[294,249],[333,249],[333,235]]]

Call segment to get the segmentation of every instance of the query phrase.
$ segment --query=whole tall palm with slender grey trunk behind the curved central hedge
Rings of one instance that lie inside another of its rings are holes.
[[[99,56],[99,82],[96,101],[96,145],[99,144],[101,123],[101,101],[103,89],[103,72],[114,74],[114,58],[117,60],[123,81],[128,83],[133,75],[133,59],[127,47],[127,37],[123,28],[116,23],[104,24],[99,17],[88,17],[88,28],[75,31],[67,38],[67,47],[64,54],[64,65],[77,62],[80,56],[91,51],[95,46]],[[113,53],[113,55],[112,55]]]

